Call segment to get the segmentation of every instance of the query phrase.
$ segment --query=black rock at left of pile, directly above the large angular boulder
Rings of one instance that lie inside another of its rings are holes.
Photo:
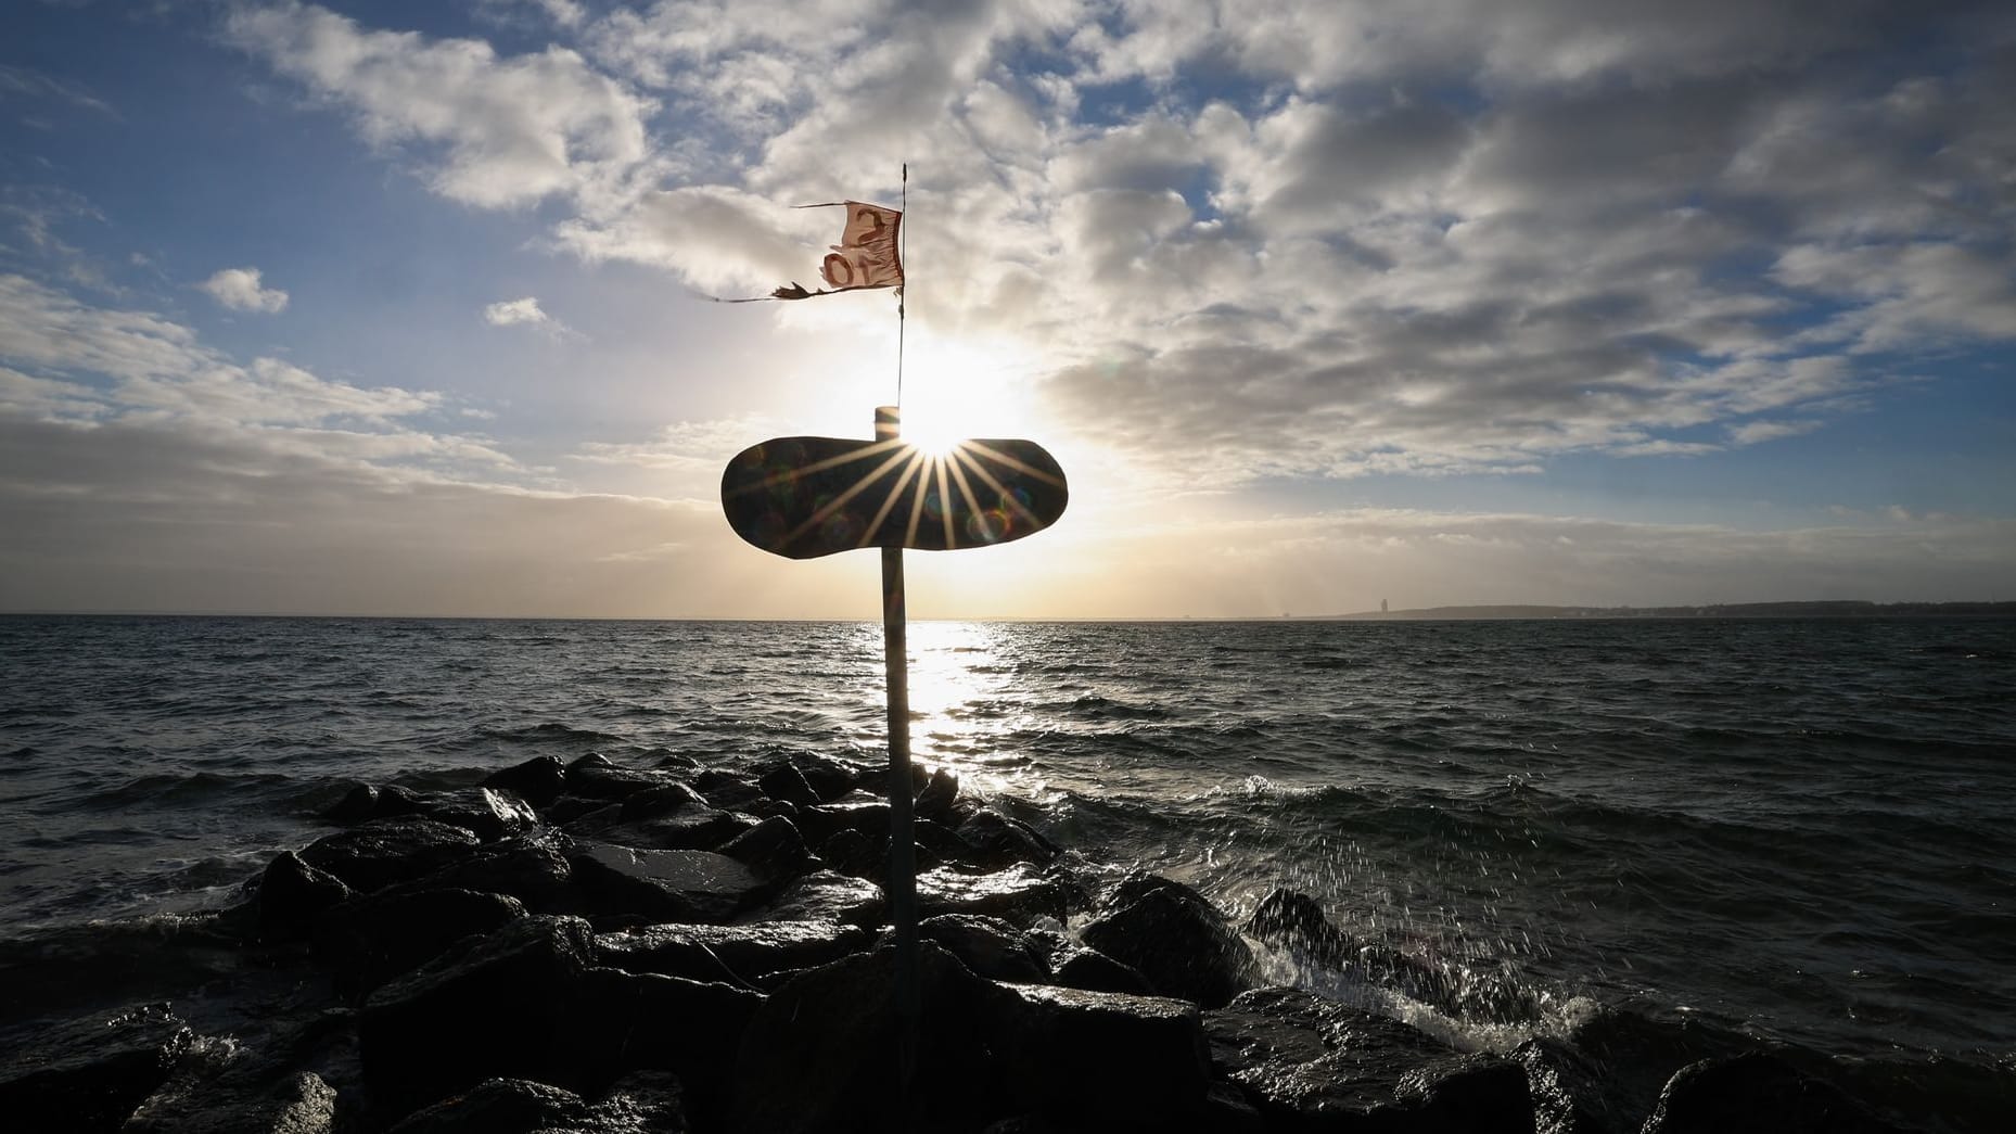
[[[314,958],[343,995],[363,997],[458,940],[520,916],[524,904],[502,894],[385,890],[325,912],[314,924]]]

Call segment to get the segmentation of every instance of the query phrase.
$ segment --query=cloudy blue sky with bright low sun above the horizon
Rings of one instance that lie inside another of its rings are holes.
[[[0,609],[863,617],[722,464],[1048,446],[917,615],[2016,599],[2016,10],[16,0]]]

